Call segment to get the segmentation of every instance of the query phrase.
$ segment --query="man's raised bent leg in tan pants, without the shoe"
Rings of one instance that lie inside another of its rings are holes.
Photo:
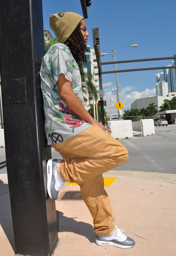
[[[52,146],[63,156],[58,170],[63,180],[78,184],[97,177],[128,159],[128,151],[124,145],[97,126],[90,126],[73,138]]]

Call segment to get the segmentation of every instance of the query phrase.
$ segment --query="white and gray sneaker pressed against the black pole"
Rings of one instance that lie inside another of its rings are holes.
[[[49,159],[47,162],[47,190],[52,200],[58,198],[59,190],[64,186],[65,182],[61,181],[56,165],[57,159]]]

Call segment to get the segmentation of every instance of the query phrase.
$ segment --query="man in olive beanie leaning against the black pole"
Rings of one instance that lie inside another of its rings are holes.
[[[50,26],[61,43],[50,47],[40,70],[45,131],[48,145],[63,160],[50,159],[47,163],[48,194],[56,200],[64,182],[78,183],[94,219],[96,243],[133,247],[135,241],[112,224],[114,218],[102,177],[102,173],[123,164],[128,151],[84,108],[77,63],[86,62],[86,23],[79,14],[60,12],[50,16]]]

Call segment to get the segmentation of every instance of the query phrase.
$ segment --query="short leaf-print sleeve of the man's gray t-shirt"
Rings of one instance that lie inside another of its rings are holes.
[[[68,48],[57,48],[51,56],[51,63],[54,63],[52,68],[54,71],[53,82],[55,84],[60,78],[61,73],[63,73],[65,78],[72,83],[73,64]]]

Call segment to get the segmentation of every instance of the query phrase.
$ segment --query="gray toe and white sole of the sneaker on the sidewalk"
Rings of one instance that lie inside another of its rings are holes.
[[[135,245],[135,241],[130,237],[127,237],[127,239],[123,242],[119,242],[118,240],[108,241],[96,235],[95,242],[97,245],[101,246],[115,246],[124,249],[131,248]]]

